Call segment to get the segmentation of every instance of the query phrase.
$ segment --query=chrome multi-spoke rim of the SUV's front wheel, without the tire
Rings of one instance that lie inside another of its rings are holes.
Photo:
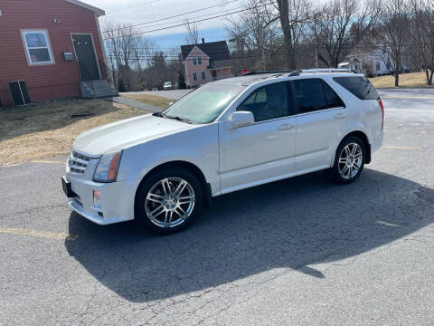
[[[159,227],[175,227],[191,216],[194,200],[193,187],[187,181],[180,177],[167,177],[147,193],[146,215]]]

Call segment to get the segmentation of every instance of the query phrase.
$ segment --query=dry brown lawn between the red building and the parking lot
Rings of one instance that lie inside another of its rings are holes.
[[[90,115],[71,117],[83,113]],[[66,156],[80,132],[145,113],[104,100],[52,101],[0,110],[0,166]]]

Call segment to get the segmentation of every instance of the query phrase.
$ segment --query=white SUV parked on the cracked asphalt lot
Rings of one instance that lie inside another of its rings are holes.
[[[328,169],[360,176],[382,146],[384,110],[350,72],[260,72],[210,82],[161,113],[75,140],[62,177],[69,205],[100,225],[139,219],[161,232],[212,197]]]

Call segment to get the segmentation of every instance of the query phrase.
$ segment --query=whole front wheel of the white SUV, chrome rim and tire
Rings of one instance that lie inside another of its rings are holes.
[[[188,225],[203,206],[203,187],[184,168],[165,168],[146,177],[139,189],[136,216],[159,233],[173,233]]]

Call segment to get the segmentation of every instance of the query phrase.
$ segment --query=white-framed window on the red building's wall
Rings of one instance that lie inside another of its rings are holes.
[[[54,62],[47,31],[23,31],[22,33],[29,64]]]

